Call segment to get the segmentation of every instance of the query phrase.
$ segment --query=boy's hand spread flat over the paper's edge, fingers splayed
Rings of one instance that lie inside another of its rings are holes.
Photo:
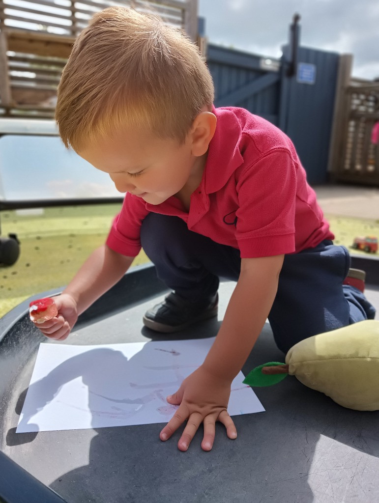
[[[230,439],[237,437],[237,430],[228,407],[231,393],[231,381],[222,380],[200,366],[189,375],[179,390],[167,397],[172,405],[179,405],[172,419],[161,431],[161,440],[168,440],[186,421],[187,425],[178,442],[178,448],[186,451],[201,423],[204,423],[204,437],[201,448],[210,451],[214,442],[215,423],[219,421],[226,428]]]

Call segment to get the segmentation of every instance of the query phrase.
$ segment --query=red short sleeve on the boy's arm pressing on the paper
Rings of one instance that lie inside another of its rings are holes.
[[[266,152],[237,180],[236,238],[241,258],[295,251],[297,165],[286,148]]]

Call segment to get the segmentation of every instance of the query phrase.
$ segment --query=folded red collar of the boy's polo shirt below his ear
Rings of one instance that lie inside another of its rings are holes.
[[[209,143],[203,179],[206,194],[220,190],[244,162],[239,150],[242,124],[233,110],[212,107],[216,130]]]

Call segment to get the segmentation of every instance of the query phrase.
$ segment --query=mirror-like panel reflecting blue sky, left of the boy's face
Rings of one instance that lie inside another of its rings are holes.
[[[57,136],[2,136],[0,165],[0,199],[6,201],[122,197],[107,174],[67,150]]]

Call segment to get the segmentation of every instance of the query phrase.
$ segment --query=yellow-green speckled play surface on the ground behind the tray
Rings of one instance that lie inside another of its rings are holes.
[[[119,204],[108,204],[3,211],[2,236],[16,233],[21,254],[13,266],[0,267],[0,316],[32,295],[66,285],[91,251],[104,242],[119,208]],[[379,237],[379,220],[326,216],[336,244],[350,247],[358,235]],[[145,262],[148,259],[141,251],[133,265]]]

